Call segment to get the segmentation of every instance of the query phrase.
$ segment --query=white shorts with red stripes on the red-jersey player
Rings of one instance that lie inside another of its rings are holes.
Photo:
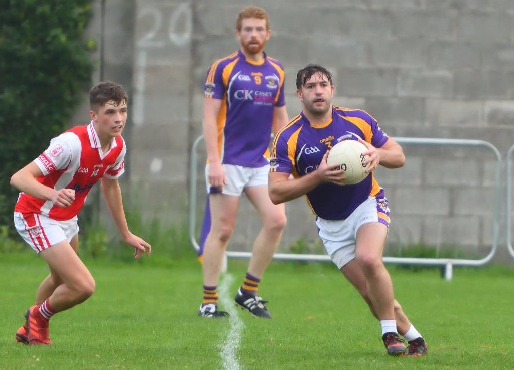
[[[14,212],[14,226],[23,240],[38,253],[63,240],[70,242],[79,232],[77,216],[57,221],[38,213]]]

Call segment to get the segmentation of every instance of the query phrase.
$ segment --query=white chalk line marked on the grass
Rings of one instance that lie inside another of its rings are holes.
[[[241,343],[241,333],[245,324],[235,309],[234,300],[229,296],[228,288],[233,280],[234,277],[232,275],[225,274],[221,284],[219,284],[219,300],[223,304],[222,309],[226,309],[230,314],[230,330],[225,343],[223,343],[221,352],[222,364],[225,370],[239,370],[242,368],[237,362],[237,349],[239,349]]]

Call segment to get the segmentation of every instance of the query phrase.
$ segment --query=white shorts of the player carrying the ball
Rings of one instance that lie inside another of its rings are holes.
[[[381,222],[389,227],[389,212],[386,197],[371,197],[345,220],[316,219],[318,234],[337,268],[340,269],[355,258],[355,240],[359,227],[368,222]]]

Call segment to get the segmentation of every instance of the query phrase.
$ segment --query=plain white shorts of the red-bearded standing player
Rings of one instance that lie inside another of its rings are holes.
[[[267,186],[269,165],[263,167],[243,167],[232,164],[223,164],[228,185],[223,186],[223,193],[229,196],[241,196],[243,189],[248,186]],[[205,167],[205,182],[207,193],[219,193],[219,189],[209,184],[209,164]]]

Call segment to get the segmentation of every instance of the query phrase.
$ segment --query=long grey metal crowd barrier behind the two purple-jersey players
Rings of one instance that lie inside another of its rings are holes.
[[[498,249],[499,243],[499,228],[500,228],[500,191],[501,191],[501,154],[496,147],[492,144],[482,140],[460,140],[460,139],[422,139],[422,138],[393,138],[399,144],[409,145],[423,145],[423,146],[459,146],[459,147],[482,147],[490,150],[496,159],[495,171],[495,190],[494,190],[494,205],[493,205],[493,229],[492,229],[492,247],[489,254],[479,260],[471,259],[454,259],[454,258],[407,258],[407,257],[383,257],[384,263],[395,263],[404,265],[429,265],[429,266],[442,266],[445,268],[445,279],[451,280],[453,276],[453,266],[482,266],[491,261]],[[189,191],[189,235],[191,244],[196,250],[199,250],[199,245],[196,241],[196,182],[197,182],[197,147],[203,140],[200,136],[194,142],[191,148],[191,167],[190,167],[190,191]],[[514,147],[509,151],[512,154]],[[510,204],[510,203],[509,203]],[[507,230],[510,228],[507,227]],[[510,230],[509,230],[510,231]],[[509,235],[510,236],[510,235]],[[510,241],[510,239],[508,239]],[[514,257],[514,250],[510,245],[510,251]],[[250,258],[251,252],[238,252],[227,251],[227,257],[232,258]],[[300,255],[289,253],[276,253],[273,255],[276,260],[291,260],[291,261],[331,261],[327,255]]]

